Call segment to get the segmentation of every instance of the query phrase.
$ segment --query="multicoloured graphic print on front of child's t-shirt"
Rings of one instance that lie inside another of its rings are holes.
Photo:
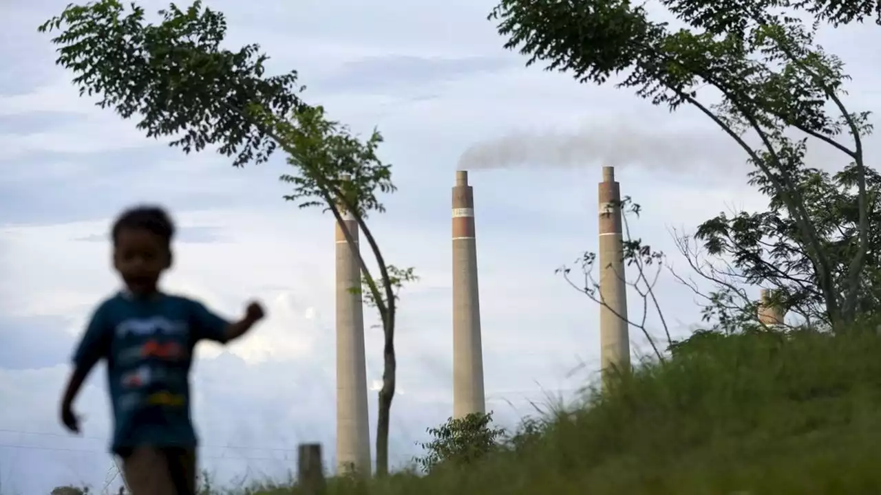
[[[129,319],[116,326],[117,338],[129,344],[116,356],[120,366],[130,368],[120,377],[125,390],[118,403],[121,409],[185,405],[185,396],[174,390],[186,380],[189,350],[183,343],[188,330],[185,322],[161,316]]]

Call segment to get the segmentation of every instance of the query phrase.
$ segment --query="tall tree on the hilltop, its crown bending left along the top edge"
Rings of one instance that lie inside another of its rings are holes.
[[[881,23],[877,1],[661,4],[686,27],[674,30],[652,20],[642,4],[629,0],[501,0],[489,18],[507,37],[506,48],[529,55],[527,65],[543,62],[546,70],[570,72],[581,83],[604,84],[624,73],[616,87],[670,111],[697,108],[734,139],[756,169],[752,183],[771,196],[774,216],[787,225],[825,320],[836,328],[847,326],[866,290],[877,227],[862,149],[862,138],[871,131],[870,113],[845,107],[843,63],[818,46],[815,34],[823,24],[862,22],[873,14]],[[840,151],[846,164],[842,177],[854,191],[805,166],[809,139]],[[811,213],[809,196],[824,180],[855,218],[847,235],[825,236]],[[759,226],[744,232],[767,241]],[[724,253],[707,242],[711,253]],[[778,248],[787,249],[774,241],[771,247],[762,245],[763,259],[772,260]],[[762,277],[750,281],[766,282]]]

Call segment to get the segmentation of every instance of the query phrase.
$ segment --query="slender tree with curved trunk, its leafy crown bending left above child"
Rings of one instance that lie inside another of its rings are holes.
[[[378,192],[394,192],[391,170],[377,156],[379,132],[362,141],[322,107],[300,99],[305,89],[291,71],[267,76],[267,55],[255,44],[237,51],[220,48],[226,18],[196,1],[186,10],[171,4],[147,23],[144,9],[118,0],[70,4],[40,26],[58,31],[56,63],[73,71],[80,95],[96,95],[124,119],[137,120],[147,137],[173,137],[187,153],[211,146],[233,166],[261,164],[280,148],[292,174],[286,200],[320,206],[344,225],[341,207],[351,212],[378,264],[381,286],[359,253],[369,292],[384,332],[384,370],[376,426],[376,470],[389,469],[389,411],[395,395],[395,297],[389,268],[373,233],[369,213],[382,212]],[[348,174],[350,181],[342,176]],[[343,228],[354,246],[352,233]]]

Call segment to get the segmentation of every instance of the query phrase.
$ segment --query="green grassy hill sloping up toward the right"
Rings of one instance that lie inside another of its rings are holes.
[[[354,495],[881,493],[881,337],[800,331],[692,339],[463,469]],[[262,493],[296,493],[278,489]]]

